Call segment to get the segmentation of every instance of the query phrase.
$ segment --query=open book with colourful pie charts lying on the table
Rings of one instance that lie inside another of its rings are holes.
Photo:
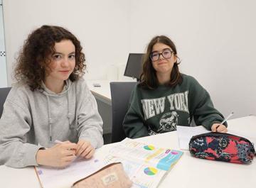
[[[129,138],[98,153],[100,150],[90,160],[78,157],[68,167],[35,167],[41,187],[72,187],[107,165],[122,162],[133,188],[155,188],[183,154],[179,150],[156,148]]]

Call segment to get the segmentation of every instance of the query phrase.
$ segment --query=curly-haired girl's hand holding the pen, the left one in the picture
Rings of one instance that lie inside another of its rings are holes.
[[[75,160],[77,146],[76,143],[65,141],[54,145],[52,148],[38,150],[38,153],[36,153],[36,162],[38,165],[46,165],[50,167],[68,166]]]

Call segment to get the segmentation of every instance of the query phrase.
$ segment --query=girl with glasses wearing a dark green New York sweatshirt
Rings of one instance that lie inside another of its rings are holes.
[[[227,123],[210,95],[196,79],[178,70],[176,47],[164,35],[152,38],[146,49],[140,82],[134,88],[124,117],[129,138],[176,131],[176,126],[204,126],[226,133]]]

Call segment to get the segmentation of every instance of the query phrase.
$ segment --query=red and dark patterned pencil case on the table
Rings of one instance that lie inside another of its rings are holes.
[[[189,151],[194,157],[235,163],[250,163],[255,156],[255,148],[250,140],[228,133],[193,136]]]

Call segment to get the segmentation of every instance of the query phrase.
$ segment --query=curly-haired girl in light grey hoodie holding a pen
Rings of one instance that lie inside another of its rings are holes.
[[[65,167],[103,145],[84,70],[80,41],[70,31],[42,26],[28,35],[0,119],[0,165]]]

